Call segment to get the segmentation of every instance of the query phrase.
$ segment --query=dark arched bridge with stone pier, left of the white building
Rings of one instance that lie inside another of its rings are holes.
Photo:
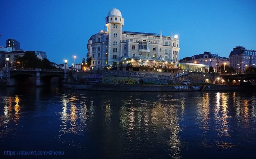
[[[43,71],[36,70],[10,70],[8,85],[28,85],[44,86],[50,84],[53,77],[58,77],[59,81],[64,80],[64,71]]]

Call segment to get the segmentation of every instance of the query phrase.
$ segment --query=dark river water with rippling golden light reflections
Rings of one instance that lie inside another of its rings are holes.
[[[256,92],[0,87],[0,159],[255,156]]]

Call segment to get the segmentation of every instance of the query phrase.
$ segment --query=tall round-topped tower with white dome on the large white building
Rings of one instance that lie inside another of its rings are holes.
[[[105,20],[108,33],[108,65],[118,65],[124,18],[122,18],[120,10],[113,8],[108,12]]]

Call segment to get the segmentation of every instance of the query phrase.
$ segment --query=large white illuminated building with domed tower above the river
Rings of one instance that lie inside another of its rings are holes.
[[[107,30],[88,40],[87,57],[92,57],[93,70],[130,65],[175,67],[178,62],[179,39],[162,33],[123,31],[124,18],[113,8],[105,18]]]

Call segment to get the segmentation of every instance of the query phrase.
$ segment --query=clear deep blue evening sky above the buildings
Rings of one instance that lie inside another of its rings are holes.
[[[46,51],[69,65],[86,57],[92,34],[118,8],[123,31],[177,34],[179,59],[210,51],[228,57],[235,46],[256,50],[255,0],[1,0],[0,46],[17,39],[25,51]]]

